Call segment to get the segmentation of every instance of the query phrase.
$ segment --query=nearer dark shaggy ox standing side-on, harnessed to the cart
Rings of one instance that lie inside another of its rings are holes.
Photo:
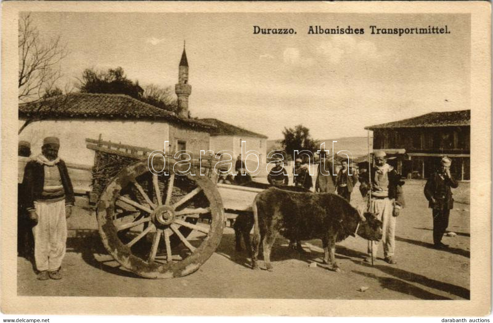
[[[270,188],[257,194],[252,208],[253,240],[249,249],[253,269],[258,269],[257,256],[262,242],[266,269],[272,271],[270,254],[278,233],[290,241],[321,239],[323,262],[336,272],[341,271],[335,262],[336,242],[355,236],[360,221],[366,221],[366,227],[371,227],[375,236],[382,238],[382,222],[374,217],[366,217],[371,219],[367,221],[336,194],[295,193]],[[242,230],[245,238],[250,229],[251,226]]]

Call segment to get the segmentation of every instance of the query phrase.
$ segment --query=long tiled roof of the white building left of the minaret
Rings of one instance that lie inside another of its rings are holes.
[[[178,117],[171,111],[157,108],[133,97],[119,94],[72,93],[19,104],[19,117],[43,119],[96,118],[153,120],[180,124],[204,130],[214,129],[211,124],[195,119]]]

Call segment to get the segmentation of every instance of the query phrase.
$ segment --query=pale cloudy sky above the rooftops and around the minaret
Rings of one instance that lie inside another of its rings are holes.
[[[463,14],[36,12],[70,54],[59,86],[85,68],[121,66],[140,84],[172,86],[186,40],[189,109],[269,139],[302,124],[315,139],[365,136],[365,126],[470,108],[470,18]],[[309,26],[364,28],[308,34]],[[448,26],[442,35],[378,28]],[[253,34],[253,26],[293,28]]]

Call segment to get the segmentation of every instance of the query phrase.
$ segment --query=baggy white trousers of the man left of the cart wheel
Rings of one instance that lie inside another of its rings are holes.
[[[67,243],[65,200],[34,203],[38,222],[33,227],[34,258],[37,270],[54,271],[60,268]]]

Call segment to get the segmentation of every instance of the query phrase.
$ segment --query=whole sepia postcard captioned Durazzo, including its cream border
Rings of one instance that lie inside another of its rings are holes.
[[[474,31],[490,20],[471,13],[489,3],[75,4],[14,3],[17,38],[2,32],[9,297],[59,306],[23,313],[67,296],[454,308],[473,281],[488,305],[467,313],[489,313],[491,82],[477,86]]]

